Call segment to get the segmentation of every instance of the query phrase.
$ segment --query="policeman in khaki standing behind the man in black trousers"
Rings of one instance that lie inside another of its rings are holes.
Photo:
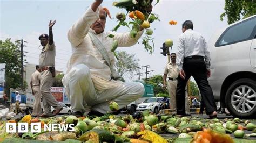
[[[179,75],[179,69],[176,65],[176,53],[171,53],[171,62],[167,63],[164,69],[163,87],[166,88],[166,78],[168,78],[168,92],[170,96],[170,109],[173,114],[176,114],[176,89],[177,89],[177,78]],[[186,98],[186,113],[190,115],[190,108],[188,99]]]

